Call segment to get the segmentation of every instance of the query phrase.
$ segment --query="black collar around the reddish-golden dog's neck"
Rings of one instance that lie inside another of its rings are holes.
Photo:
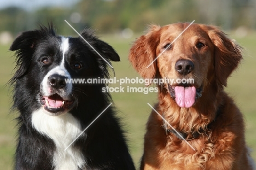
[[[222,105],[220,105],[220,106],[218,107],[218,109],[217,109],[217,111],[216,111],[216,115],[215,115],[214,120],[213,120],[210,124],[207,125],[207,129],[208,129],[208,130],[211,129],[212,124],[216,121],[217,117],[220,115],[221,109],[222,109]],[[199,130],[199,131],[196,131],[196,132],[187,132],[187,133],[183,133],[183,132],[178,132],[178,131],[177,131],[177,132],[180,134],[180,135],[179,135],[176,131],[167,128],[167,126],[168,126],[168,125],[166,125],[166,124],[164,123],[163,128],[164,128],[164,130],[165,130],[166,135],[168,135],[168,133],[173,133],[177,138],[182,139],[182,140],[183,140],[183,138],[184,138],[185,140],[197,139],[197,138],[199,138],[200,134],[206,133],[206,132],[203,131],[203,130]],[[183,138],[182,138],[181,136],[182,136]]]

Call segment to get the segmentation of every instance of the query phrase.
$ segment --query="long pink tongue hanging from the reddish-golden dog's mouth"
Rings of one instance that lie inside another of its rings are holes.
[[[176,86],[174,90],[176,103],[179,105],[179,107],[189,108],[195,103],[196,88],[194,86]]]

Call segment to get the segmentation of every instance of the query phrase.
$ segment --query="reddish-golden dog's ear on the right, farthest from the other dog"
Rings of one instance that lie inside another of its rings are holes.
[[[242,48],[217,27],[212,27],[212,30],[208,31],[208,36],[215,48],[214,65],[217,83],[226,86],[228,77],[242,60]]]

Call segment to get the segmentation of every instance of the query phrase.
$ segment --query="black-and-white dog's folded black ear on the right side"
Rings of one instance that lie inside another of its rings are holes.
[[[120,61],[117,52],[109,44],[103,42],[95,36],[95,33],[90,28],[85,28],[81,36],[104,58],[111,61]],[[83,40],[84,41],[84,40]],[[85,42],[86,43],[86,42]],[[90,47],[91,49],[91,47]],[[91,49],[93,50],[93,49]]]

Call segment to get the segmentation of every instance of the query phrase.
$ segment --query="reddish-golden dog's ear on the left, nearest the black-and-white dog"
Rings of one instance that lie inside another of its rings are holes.
[[[149,32],[139,37],[130,49],[129,60],[143,78],[155,77],[157,65],[154,60],[160,39],[159,30],[159,26],[150,26]],[[151,63],[152,65],[150,65]]]

